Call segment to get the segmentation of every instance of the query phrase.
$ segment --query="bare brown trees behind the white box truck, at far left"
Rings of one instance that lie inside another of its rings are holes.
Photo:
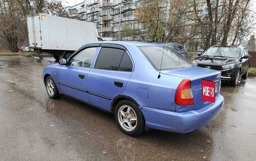
[[[28,40],[26,15],[34,13],[68,17],[60,0],[0,0],[0,36],[12,52]]]

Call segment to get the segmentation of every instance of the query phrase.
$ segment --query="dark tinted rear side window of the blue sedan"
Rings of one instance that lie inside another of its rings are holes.
[[[131,71],[132,62],[125,50],[103,47],[99,52],[95,68],[103,70]]]

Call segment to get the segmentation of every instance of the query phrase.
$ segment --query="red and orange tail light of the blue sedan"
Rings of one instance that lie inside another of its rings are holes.
[[[180,82],[175,94],[175,103],[177,105],[194,104],[193,92],[191,89],[191,80],[184,79]]]

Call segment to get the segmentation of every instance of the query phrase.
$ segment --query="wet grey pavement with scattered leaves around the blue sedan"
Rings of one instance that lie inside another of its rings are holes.
[[[0,57],[0,160],[256,160],[256,79],[223,84],[225,105],[188,134],[123,134],[112,114],[62,96],[42,82],[52,58]]]

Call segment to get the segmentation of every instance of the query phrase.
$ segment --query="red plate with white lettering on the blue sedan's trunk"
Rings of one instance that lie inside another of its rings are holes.
[[[215,93],[215,82],[202,80],[202,100],[207,102],[215,102]]]

